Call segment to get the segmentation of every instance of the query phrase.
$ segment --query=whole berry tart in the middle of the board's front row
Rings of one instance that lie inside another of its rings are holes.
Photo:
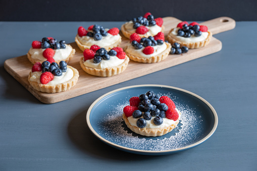
[[[92,45],[85,49],[80,59],[81,68],[88,74],[98,77],[111,77],[122,73],[128,66],[129,58],[121,47],[107,51]]]

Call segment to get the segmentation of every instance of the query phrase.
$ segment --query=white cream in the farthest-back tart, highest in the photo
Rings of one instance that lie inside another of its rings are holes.
[[[133,28],[133,22],[129,21],[127,23],[125,23],[125,29],[127,32],[129,33],[135,33],[136,29]],[[141,25],[140,25],[141,26]],[[157,35],[159,32],[162,31],[162,27],[158,26],[157,24],[154,26],[145,26],[146,28],[148,28],[148,32],[145,33],[146,36],[153,36],[153,35]]]

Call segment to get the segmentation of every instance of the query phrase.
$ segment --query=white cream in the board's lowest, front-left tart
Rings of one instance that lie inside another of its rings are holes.
[[[42,72],[33,72],[31,73],[30,81],[37,82],[38,84],[40,83],[40,76]],[[67,68],[67,71],[64,72],[61,76],[54,76],[54,79],[47,83],[46,85],[57,85],[57,84],[62,84],[66,81],[69,81],[73,77],[73,71],[70,68]]]

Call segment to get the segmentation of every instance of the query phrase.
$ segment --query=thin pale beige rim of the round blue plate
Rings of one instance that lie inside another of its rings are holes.
[[[121,146],[121,145],[118,145],[118,144],[115,144],[113,142],[110,142],[108,140],[106,140],[105,138],[101,137],[99,134],[97,134],[97,132],[93,129],[93,127],[91,126],[90,124],[90,112],[93,108],[93,106],[98,102],[100,101],[102,98],[108,96],[109,94],[112,94],[112,93],[115,93],[115,92],[118,92],[118,91],[121,91],[121,90],[124,90],[124,89],[130,89],[130,88],[135,88],[135,87],[165,87],[165,88],[171,88],[171,89],[176,89],[176,90],[179,90],[179,91],[183,91],[185,93],[188,93],[188,94],[191,94],[193,96],[195,96],[196,98],[200,99],[201,101],[203,101],[205,104],[207,104],[210,109],[212,110],[213,112],[213,115],[214,115],[214,126],[212,128],[212,130],[210,131],[210,133],[208,135],[206,135],[204,138],[202,138],[201,140],[193,143],[193,144],[190,144],[188,146],[185,146],[185,147],[180,147],[180,148],[176,148],[176,149],[170,149],[170,150],[163,150],[163,151],[155,151],[155,150],[139,150],[139,149],[133,149],[133,148],[128,148],[128,147],[124,147],[124,146]],[[87,126],[88,128],[90,129],[90,131],[98,138],[100,139],[101,141],[109,144],[109,145],[112,145],[113,147],[115,148],[118,148],[118,149],[122,149],[122,150],[125,150],[125,151],[129,151],[129,152],[133,152],[133,153],[147,153],[147,154],[156,154],[156,153],[172,153],[172,152],[178,152],[178,151],[181,151],[181,150],[186,150],[186,149],[190,149],[192,147],[195,147],[197,145],[200,145],[201,143],[203,143],[204,141],[206,141],[207,139],[209,139],[213,134],[214,132],[216,131],[217,129],[217,126],[218,126],[218,115],[217,115],[217,112],[216,110],[214,109],[214,107],[207,101],[205,100],[204,98],[200,97],[199,95],[195,94],[195,93],[192,93],[188,90],[185,90],[185,89],[182,89],[182,88],[178,88],[178,87],[173,87],[173,86],[168,86],[168,85],[159,85],[159,84],[140,84],[140,85],[133,85],[133,86],[126,86],[126,87],[122,87],[122,88],[118,88],[118,89],[115,89],[115,90],[112,90],[104,95],[101,95],[100,97],[98,97],[91,105],[90,107],[88,108],[87,110],[87,113],[86,113],[86,123],[87,123]]]

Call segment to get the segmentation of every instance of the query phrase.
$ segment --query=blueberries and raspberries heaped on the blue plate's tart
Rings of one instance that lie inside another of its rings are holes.
[[[174,121],[179,118],[174,102],[169,97],[160,97],[152,91],[141,94],[139,97],[131,97],[129,103],[130,105],[125,106],[123,112],[126,117],[138,118],[137,127],[139,128],[144,128],[146,121],[152,118],[155,125],[162,125],[163,118]]]

